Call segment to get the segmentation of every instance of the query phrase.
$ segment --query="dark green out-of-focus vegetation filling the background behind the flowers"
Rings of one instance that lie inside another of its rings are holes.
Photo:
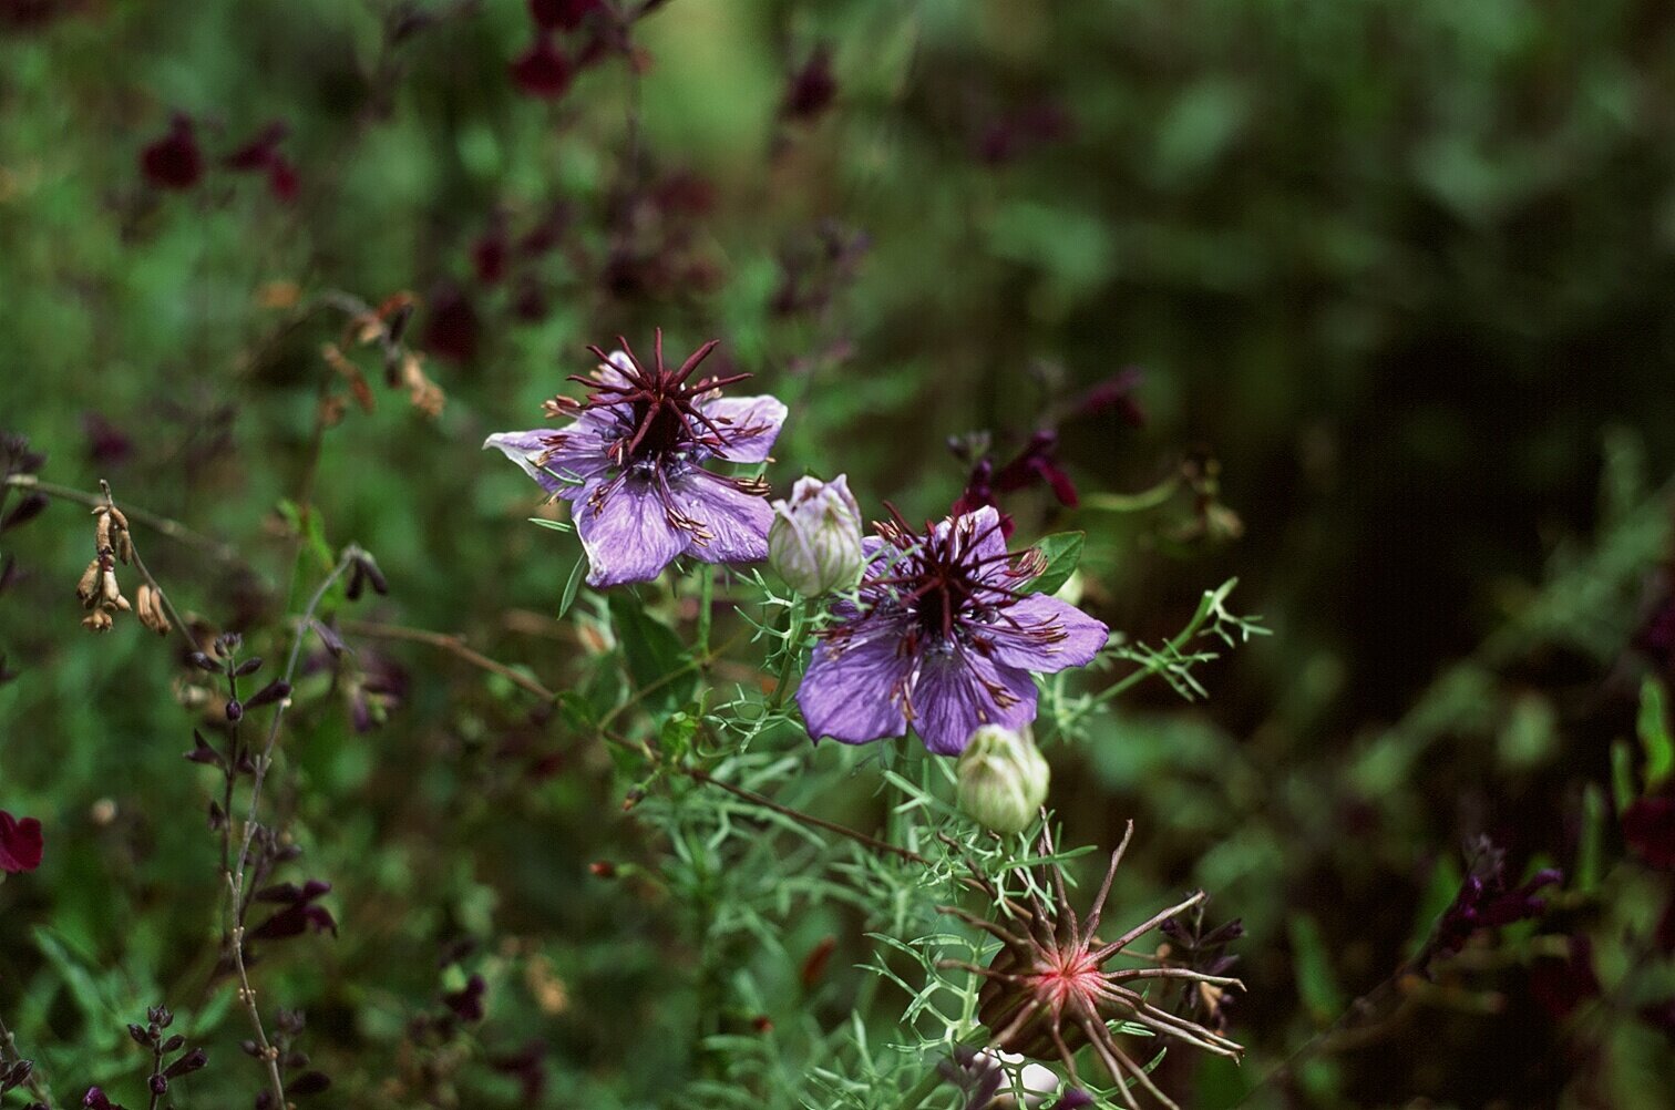
[[[1022,537],[1090,532],[1114,628],[1167,636],[1238,574],[1276,633],[1203,675],[1208,703],[1157,683],[1049,752],[1080,840],[1136,817],[1129,896],[1201,882],[1250,929],[1253,1056],[1206,1066],[1193,1105],[1305,1045],[1251,1105],[1668,1105],[1668,1033],[1636,1010],[1672,969],[1633,938],[1670,884],[1621,862],[1615,807],[1642,678],[1668,675],[1631,641],[1675,470],[1675,8],[670,0],[626,42],[566,32],[573,62],[605,45],[551,100],[509,74],[533,42],[514,0],[5,0],[0,35],[0,429],[49,452],[42,479],[106,477],[229,541],[221,561],[137,529],[183,608],[253,630],[296,609],[290,499],[379,556],[382,619],[561,683],[573,549],[477,445],[536,425],[585,343],[722,338],[792,405],[777,491],[846,470],[908,516],[958,494],[948,437],[987,429],[1003,462],[1141,367],[1144,429],[1062,424],[1082,506],[1007,506]],[[822,44],[829,105],[804,69]],[[204,161],[181,191],[141,166],[176,112]],[[223,164],[275,121],[290,198],[271,162]],[[320,355],[343,316],[305,311],[327,290],[422,298],[439,417],[363,358],[375,410],[320,429],[345,390]],[[1216,512],[1188,491],[1112,511],[1183,462],[1218,472]],[[218,1030],[193,1092],[218,1105],[255,1080],[204,986],[208,785],[179,762],[173,648],[75,626],[87,527],[59,502],[0,541],[25,573],[0,598],[0,807],[49,830],[0,887],[0,1013],[64,1098],[132,1073],[121,1023],[168,994]],[[459,989],[439,953],[462,936],[504,1065],[459,1078],[464,1105],[647,1105],[702,1070],[675,1031],[719,1003],[683,907],[586,869],[658,852],[605,757],[449,656],[357,646],[404,668],[400,703],[365,735],[307,708],[283,802],[342,936],[260,968],[265,1000],[307,1006],[325,1098],[456,1083],[415,1078],[404,1030]],[[1412,954],[1477,834],[1514,872],[1566,871],[1548,919],[1312,1043]],[[787,948],[826,933],[832,968],[858,963],[858,919]],[[1596,938],[1606,996],[1563,1016],[1531,981],[1566,934]],[[849,974],[804,996],[789,968],[762,1005],[841,1020]],[[551,1078],[519,1103],[531,1038]]]

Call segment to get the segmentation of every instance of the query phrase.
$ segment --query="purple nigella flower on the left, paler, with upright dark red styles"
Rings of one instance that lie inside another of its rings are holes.
[[[765,462],[786,420],[772,397],[722,400],[724,385],[749,373],[687,380],[715,350],[710,340],[678,368],[640,365],[628,342],[606,355],[591,378],[571,375],[593,390],[588,400],[554,397],[548,415],[573,415],[559,430],[502,432],[484,447],[499,447],[541,489],[575,502],[573,516],[588,552],[588,584],[647,583],[678,556],[705,563],[755,563],[767,558],[774,521],[767,484],[714,474],[707,459]]]

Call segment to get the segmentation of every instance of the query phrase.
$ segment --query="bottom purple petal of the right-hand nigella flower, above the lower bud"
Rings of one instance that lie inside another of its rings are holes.
[[[1028,671],[955,648],[925,655],[913,685],[913,730],[936,755],[958,755],[983,725],[1023,728],[1035,720]]]

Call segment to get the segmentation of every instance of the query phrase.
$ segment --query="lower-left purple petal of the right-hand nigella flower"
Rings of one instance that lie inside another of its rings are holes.
[[[868,743],[908,732],[901,691],[913,658],[896,650],[899,630],[869,631],[864,638],[814,646],[814,660],[797,688],[797,708],[812,740]]]

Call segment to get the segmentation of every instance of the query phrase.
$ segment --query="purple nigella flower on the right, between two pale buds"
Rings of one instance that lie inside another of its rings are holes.
[[[891,511],[894,514],[894,511]],[[1035,718],[1030,671],[1090,663],[1106,626],[1042,593],[1038,552],[1007,554],[992,507],[913,532],[899,514],[878,524],[858,603],[821,633],[797,705],[809,735],[844,743],[899,737],[958,755],[982,725]]]

